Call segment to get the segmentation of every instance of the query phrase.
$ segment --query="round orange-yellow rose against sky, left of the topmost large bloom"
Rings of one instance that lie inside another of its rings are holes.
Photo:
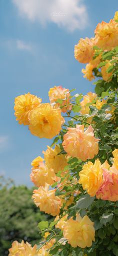
[[[74,46],[74,57],[80,63],[88,63],[92,60],[94,50],[93,39],[80,39],[78,44]]]

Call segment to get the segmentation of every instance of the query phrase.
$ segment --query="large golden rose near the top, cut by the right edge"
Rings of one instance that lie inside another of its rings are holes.
[[[101,22],[95,29],[95,44],[102,50],[110,51],[118,45],[117,23],[110,20],[109,23]]]

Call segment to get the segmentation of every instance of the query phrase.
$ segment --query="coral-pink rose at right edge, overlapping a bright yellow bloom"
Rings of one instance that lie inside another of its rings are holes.
[[[96,197],[102,200],[118,200],[118,170],[111,167],[103,170],[103,183],[96,192]]]

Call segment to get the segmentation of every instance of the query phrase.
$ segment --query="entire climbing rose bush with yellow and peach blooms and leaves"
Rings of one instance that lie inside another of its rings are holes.
[[[38,223],[37,245],[14,241],[9,256],[118,255],[117,22],[118,12],[74,48],[95,93],[54,86],[50,103],[30,93],[15,98],[19,124],[39,138],[54,137],[30,173],[32,199],[53,221]]]

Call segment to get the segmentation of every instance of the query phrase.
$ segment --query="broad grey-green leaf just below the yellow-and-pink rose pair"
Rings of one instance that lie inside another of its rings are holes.
[[[85,209],[88,208],[95,197],[91,197],[88,194],[81,196],[81,198],[76,202],[76,209]]]

